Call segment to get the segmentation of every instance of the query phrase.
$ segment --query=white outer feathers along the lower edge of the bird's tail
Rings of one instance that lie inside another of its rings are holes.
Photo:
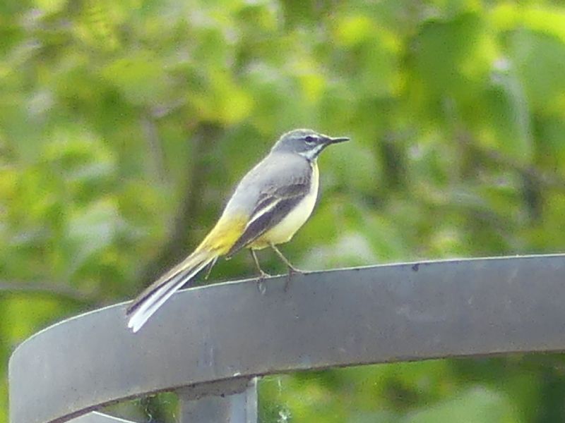
[[[197,257],[189,257],[189,260],[191,258],[196,259]],[[210,254],[209,257],[204,258],[202,261],[196,261],[192,267],[191,264],[186,265],[184,269],[181,269],[163,281],[162,285],[153,291],[153,293],[150,293],[147,298],[143,299],[141,305],[131,313],[128,321],[128,327],[131,331],[136,333],[141,329],[145,322],[153,316],[165,301],[216,258],[215,255]],[[186,273],[187,270],[189,271],[188,273]]]

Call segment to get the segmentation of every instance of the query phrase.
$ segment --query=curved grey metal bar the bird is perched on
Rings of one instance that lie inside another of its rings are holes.
[[[11,423],[64,422],[182,386],[206,395],[212,381],[234,379],[235,392],[263,374],[565,350],[564,274],[565,255],[549,255],[316,272],[286,292],[278,277],[264,294],[255,280],[222,283],[174,295],[136,334],[114,305],[13,353]]]

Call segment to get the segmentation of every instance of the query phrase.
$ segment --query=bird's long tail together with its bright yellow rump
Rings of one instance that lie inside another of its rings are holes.
[[[126,312],[129,317],[128,327],[137,332],[171,295],[208,264],[213,266],[218,257],[234,245],[242,234],[245,223],[245,216],[230,216],[229,219],[222,216],[189,257],[167,271],[133,300]]]

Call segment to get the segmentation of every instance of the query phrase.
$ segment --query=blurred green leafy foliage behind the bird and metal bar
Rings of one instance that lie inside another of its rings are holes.
[[[0,422],[18,343],[138,293],[297,127],[352,137],[283,246],[299,267],[562,251],[565,7],[1,1]],[[240,254],[212,280],[253,272]],[[565,422],[565,360],[336,369],[260,394],[261,422]],[[163,421],[174,398],[118,408]]]

